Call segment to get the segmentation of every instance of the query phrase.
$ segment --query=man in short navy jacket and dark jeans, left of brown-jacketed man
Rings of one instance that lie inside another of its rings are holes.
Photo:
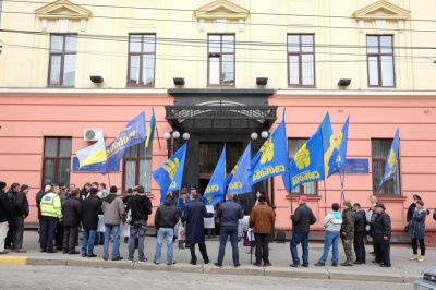
[[[233,266],[239,267],[238,226],[239,220],[244,218],[244,212],[242,210],[241,205],[233,201],[232,193],[226,194],[226,202],[219,206],[217,217],[221,219],[221,229],[219,233],[218,262],[215,263],[215,266],[222,266],[227,238],[230,235]]]

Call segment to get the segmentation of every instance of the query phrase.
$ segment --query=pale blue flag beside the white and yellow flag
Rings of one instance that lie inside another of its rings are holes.
[[[145,112],[136,116],[130,121],[121,133],[106,146],[108,159],[98,165],[98,170],[101,174],[110,172],[120,164],[129,147],[145,141]]]

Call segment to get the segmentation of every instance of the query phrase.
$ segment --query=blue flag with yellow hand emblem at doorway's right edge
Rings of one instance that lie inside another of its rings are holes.
[[[288,162],[288,144],[283,118],[251,161],[247,169],[250,185],[275,176],[284,174]]]

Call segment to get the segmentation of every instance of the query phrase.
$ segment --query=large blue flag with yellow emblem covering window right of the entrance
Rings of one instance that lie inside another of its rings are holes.
[[[328,153],[332,130],[327,113],[315,134],[304,143],[289,164],[290,186],[325,179],[325,154]]]

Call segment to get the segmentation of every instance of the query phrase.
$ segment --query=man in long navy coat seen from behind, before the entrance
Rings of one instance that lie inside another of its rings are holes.
[[[191,193],[191,202],[184,207],[182,222],[186,221],[186,243],[190,244],[190,263],[192,265],[197,264],[197,257],[195,255],[195,244],[198,244],[204,263],[209,263],[204,233],[204,218],[209,217],[214,217],[214,214],[207,213],[206,205],[203,202],[198,201],[198,193]]]

